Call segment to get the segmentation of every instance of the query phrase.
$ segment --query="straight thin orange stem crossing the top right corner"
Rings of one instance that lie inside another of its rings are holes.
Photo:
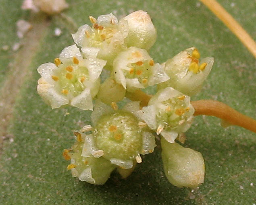
[[[200,0],[205,4],[256,57],[256,43],[235,19],[215,0]]]

